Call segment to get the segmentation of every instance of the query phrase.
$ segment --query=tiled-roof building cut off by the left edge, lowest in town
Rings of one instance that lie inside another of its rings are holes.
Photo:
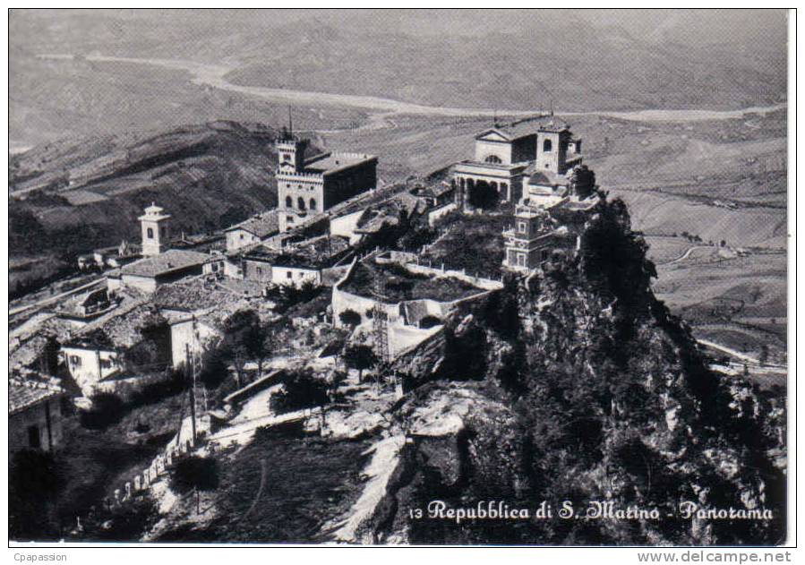
[[[62,441],[64,390],[46,382],[9,379],[8,450],[52,451]]]

